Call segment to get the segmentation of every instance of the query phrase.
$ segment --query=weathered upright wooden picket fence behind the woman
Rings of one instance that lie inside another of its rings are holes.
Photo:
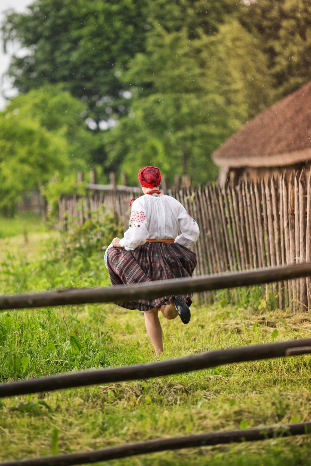
[[[198,258],[195,275],[311,260],[311,171],[284,171],[279,178],[255,183],[240,179],[237,185],[224,188],[208,183],[168,190],[167,194],[179,200],[200,227],[193,247]],[[139,195],[138,188],[117,186],[89,190],[82,197],[62,196],[62,227],[68,228],[74,221],[83,223],[104,206],[115,212],[125,230],[131,212],[129,201]],[[292,312],[304,312],[311,307],[309,278],[278,282],[272,291],[280,308],[290,306]]]

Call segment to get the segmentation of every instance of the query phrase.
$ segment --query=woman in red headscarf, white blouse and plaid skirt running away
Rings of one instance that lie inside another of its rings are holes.
[[[159,191],[159,168],[142,168],[138,180],[144,196],[132,199],[129,229],[121,240],[114,238],[105,253],[111,285],[191,277],[197,264],[196,254],[190,251],[200,234],[197,223],[178,200]],[[148,335],[159,354],[163,351],[159,310],[166,319],[180,315],[181,321],[187,324],[192,296],[189,293],[117,304],[144,311]]]

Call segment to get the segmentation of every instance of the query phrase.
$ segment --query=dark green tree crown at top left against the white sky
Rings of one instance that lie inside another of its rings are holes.
[[[66,82],[73,95],[113,95],[115,67],[142,50],[144,18],[134,0],[37,0],[28,13],[7,13],[5,44],[18,40],[32,53],[14,57],[11,73],[22,92]]]

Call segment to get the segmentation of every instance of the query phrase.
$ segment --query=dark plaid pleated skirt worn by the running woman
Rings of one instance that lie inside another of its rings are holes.
[[[177,243],[147,242],[134,251],[111,247],[107,251],[111,285],[150,283],[157,280],[191,277],[197,264],[196,254]],[[193,293],[184,295],[187,305]],[[122,308],[149,311],[173,301],[173,296],[153,300],[116,302]]]

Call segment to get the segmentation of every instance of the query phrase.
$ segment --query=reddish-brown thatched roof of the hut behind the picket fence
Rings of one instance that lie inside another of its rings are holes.
[[[311,160],[311,82],[246,123],[212,158],[227,169]]]

